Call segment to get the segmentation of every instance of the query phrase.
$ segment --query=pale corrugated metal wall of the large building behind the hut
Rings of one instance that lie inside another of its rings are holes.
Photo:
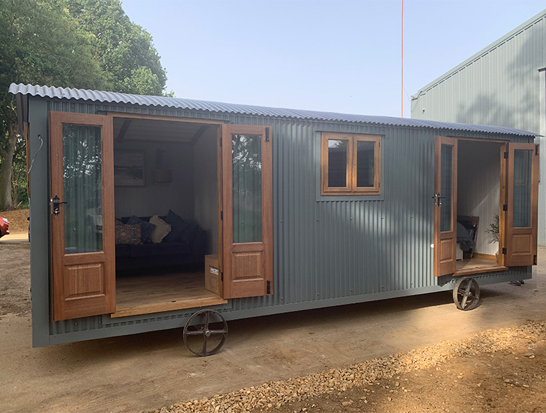
[[[540,130],[546,10],[412,97],[412,118]]]

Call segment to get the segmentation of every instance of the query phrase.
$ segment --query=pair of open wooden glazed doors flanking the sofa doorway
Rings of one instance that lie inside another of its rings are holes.
[[[271,129],[216,127],[221,295],[272,294]],[[53,318],[114,313],[113,117],[49,112],[49,149]]]

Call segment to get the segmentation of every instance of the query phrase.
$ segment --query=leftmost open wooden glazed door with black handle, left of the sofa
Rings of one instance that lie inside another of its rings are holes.
[[[109,116],[49,112],[53,319],[116,310]]]

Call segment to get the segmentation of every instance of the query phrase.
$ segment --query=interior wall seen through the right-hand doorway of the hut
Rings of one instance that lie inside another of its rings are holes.
[[[500,143],[459,141],[457,215],[480,217],[476,249],[494,255],[499,244],[485,233],[499,214]]]

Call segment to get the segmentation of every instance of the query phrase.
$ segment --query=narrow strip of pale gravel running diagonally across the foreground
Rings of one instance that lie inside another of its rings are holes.
[[[526,322],[518,327],[487,330],[468,338],[442,341],[419,350],[371,359],[344,368],[268,382],[231,393],[176,403],[154,413],[186,412],[256,412],[280,409],[285,403],[301,401],[323,393],[341,392],[353,387],[373,384],[375,380],[392,378],[409,371],[422,370],[455,357],[509,350],[517,338],[546,339],[546,322]]]

